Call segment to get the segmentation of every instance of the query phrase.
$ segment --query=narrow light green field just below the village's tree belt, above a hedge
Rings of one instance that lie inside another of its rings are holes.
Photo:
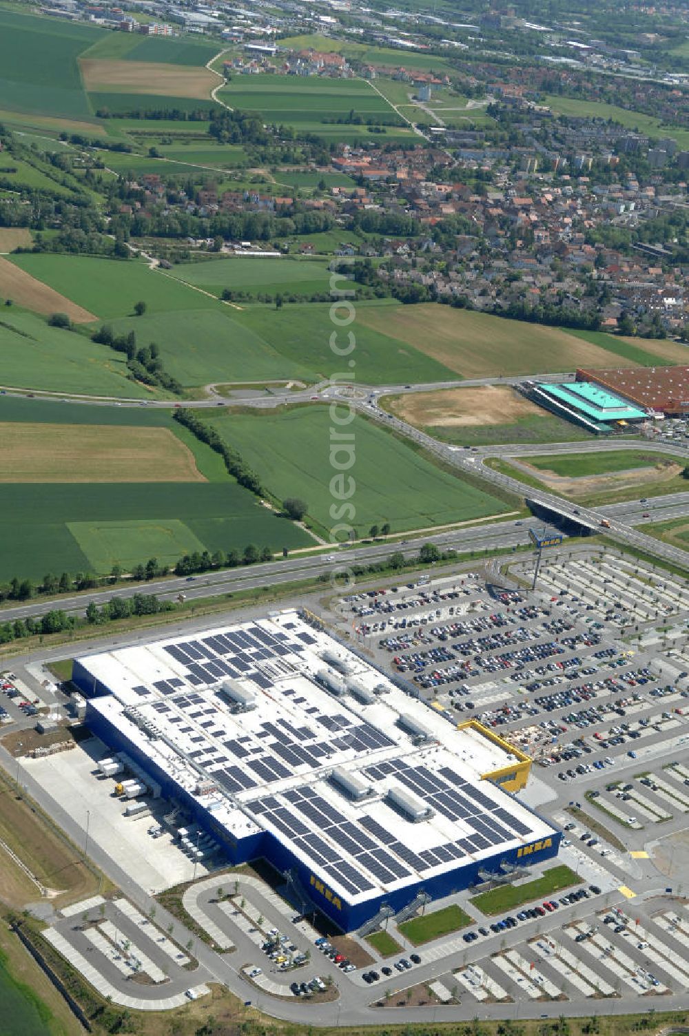
[[[169,270],[172,277],[220,295],[224,288],[275,294],[310,295],[329,290],[326,260],[318,259],[209,259],[180,263]],[[338,281],[341,285],[342,282]]]

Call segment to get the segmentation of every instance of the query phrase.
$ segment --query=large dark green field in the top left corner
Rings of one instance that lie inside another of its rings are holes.
[[[107,30],[0,10],[0,98],[16,112],[88,118],[77,58]]]

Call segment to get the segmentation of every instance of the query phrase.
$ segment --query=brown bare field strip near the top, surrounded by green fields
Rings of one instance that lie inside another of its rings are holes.
[[[81,61],[84,86],[104,93],[154,93],[164,97],[198,97],[208,100],[221,80],[207,68],[155,61]]]

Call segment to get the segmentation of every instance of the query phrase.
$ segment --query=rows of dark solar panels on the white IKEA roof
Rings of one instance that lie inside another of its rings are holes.
[[[509,811],[506,797],[500,806],[451,767],[431,769],[439,760],[426,765],[415,752],[405,756],[406,748],[350,711],[348,701],[339,702],[322,689],[310,693],[304,682],[283,680],[304,681],[304,666],[294,656],[315,643],[308,631],[282,622],[269,628],[249,623],[163,645],[179,675],[133,688],[142,698],[137,706],[150,710],[161,726],[170,724],[171,737],[186,755],[225,793],[240,797],[259,828],[274,831],[324,881],[351,897],[395,883],[412,884],[435,868],[467,863],[468,855],[496,852],[517,837],[530,836],[532,829]],[[165,675],[165,669],[157,673]],[[229,716],[226,698],[221,695],[221,703],[206,690],[228,677],[269,689],[269,706],[265,708],[265,695],[257,695],[260,708]],[[393,778],[433,810],[434,818],[420,827],[418,839],[406,838],[406,822],[379,796],[365,799],[363,808],[356,805],[352,812],[351,804],[343,807],[332,799],[327,785],[318,794],[316,782],[340,765],[338,754],[344,754],[345,766],[352,756],[365,762],[362,774],[374,789],[382,790],[381,782],[386,785]],[[453,754],[448,751],[446,757]],[[269,794],[265,785],[276,782],[283,783]],[[292,786],[285,787],[288,782]]]

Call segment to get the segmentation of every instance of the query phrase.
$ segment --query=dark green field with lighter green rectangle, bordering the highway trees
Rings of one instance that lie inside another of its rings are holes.
[[[0,536],[12,549],[0,558],[0,579],[39,579],[55,571],[104,573],[113,558],[127,565],[151,556],[172,562],[198,550],[198,544],[210,552],[248,543],[275,550],[313,544],[229,479],[155,485],[7,483],[2,494]]]

